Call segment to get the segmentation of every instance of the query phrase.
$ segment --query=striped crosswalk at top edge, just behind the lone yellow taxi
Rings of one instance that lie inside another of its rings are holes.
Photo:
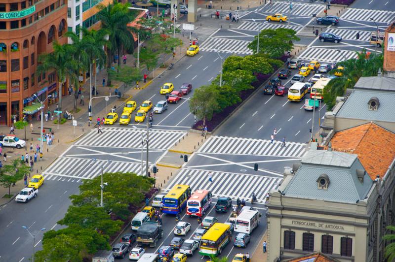
[[[273,2],[272,4],[266,4],[259,11],[265,13],[281,13],[291,16],[311,16],[312,14],[319,14],[325,9],[324,5],[321,4],[311,4],[311,3],[295,3],[292,2],[292,11],[289,9],[289,2]]]

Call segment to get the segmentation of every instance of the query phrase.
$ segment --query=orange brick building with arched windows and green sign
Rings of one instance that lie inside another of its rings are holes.
[[[20,119],[24,107],[36,113],[34,94],[57,98],[55,72],[36,69],[55,40],[67,42],[66,19],[67,0],[0,0],[0,125],[10,125],[12,115]]]

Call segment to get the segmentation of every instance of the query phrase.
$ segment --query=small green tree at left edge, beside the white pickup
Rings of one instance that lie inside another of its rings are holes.
[[[12,165],[6,164],[0,168],[0,185],[8,188],[8,195],[11,195],[12,184],[21,180],[29,171],[29,166],[21,163],[19,159],[15,159]]]

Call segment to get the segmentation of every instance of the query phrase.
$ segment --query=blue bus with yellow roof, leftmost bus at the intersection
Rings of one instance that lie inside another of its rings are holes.
[[[191,196],[191,187],[187,185],[175,185],[166,196],[163,197],[163,213],[181,213],[187,206],[187,200]]]

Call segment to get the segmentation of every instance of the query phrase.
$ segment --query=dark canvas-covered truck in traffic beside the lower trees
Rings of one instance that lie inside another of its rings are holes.
[[[146,222],[137,229],[137,245],[156,247],[158,239],[163,237],[162,226],[157,222]]]

